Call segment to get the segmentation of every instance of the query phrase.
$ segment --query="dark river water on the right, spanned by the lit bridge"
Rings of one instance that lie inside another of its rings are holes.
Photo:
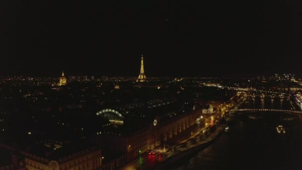
[[[253,101],[254,100],[254,101]],[[271,101],[271,103],[270,103]],[[247,99],[239,108],[290,109],[287,99]],[[176,170],[302,170],[302,119],[283,112],[238,112],[208,148],[175,163]],[[276,127],[282,125],[285,134]]]

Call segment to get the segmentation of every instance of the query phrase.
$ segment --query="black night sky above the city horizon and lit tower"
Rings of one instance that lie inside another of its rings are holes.
[[[0,75],[302,75],[301,0],[98,1],[1,0]]]

